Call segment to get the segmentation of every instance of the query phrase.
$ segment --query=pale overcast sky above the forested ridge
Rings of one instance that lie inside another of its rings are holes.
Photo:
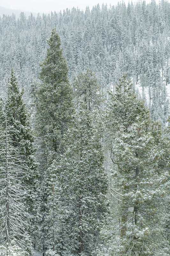
[[[11,8],[11,9],[20,9],[22,11],[29,11],[29,12],[49,12],[49,11],[60,11],[66,8],[72,8],[73,6],[77,8],[77,6],[80,9],[85,9],[85,7],[88,5],[90,9],[92,9],[93,5],[102,3],[107,3],[109,6],[117,4],[118,0],[0,0],[0,6]],[[125,3],[127,4],[129,0],[125,0]],[[131,0],[130,0],[131,2]],[[134,2],[134,1],[133,1]],[[136,1],[135,1],[136,2]],[[149,2],[149,0],[146,0],[146,2]]]

